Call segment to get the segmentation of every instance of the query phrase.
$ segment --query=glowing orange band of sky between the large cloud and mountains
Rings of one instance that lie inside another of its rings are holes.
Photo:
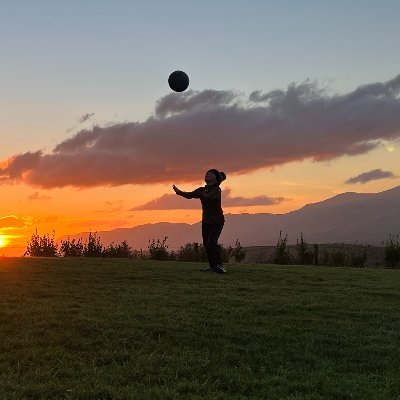
[[[311,161],[287,164],[274,170],[229,176],[222,184],[229,187],[231,195],[252,197],[257,195],[283,196],[280,204],[266,206],[224,207],[227,213],[286,213],[332,197],[345,191],[379,192],[400,184],[399,178],[382,179],[365,185],[346,185],[344,180],[349,171],[368,169],[371,163],[391,168],[397,162],[398,149],[382,148],[373,154],[326,162]],[[334,168],[332,168],[334,165]],[[397,168],[397,167],[396,167]],[[400,171],[398,170],[398,175]],[[180,184],[183,190],[192,190],[202,185]],[[163,194],[172,193],[171,185],[122,185],[118,187],[97,187],[88,189],[54,188],[38,189],[26,184],[1,186],[0,204],[0,256],[21,256],[27,241],[35,230],[40,235],[55,231],[55,237],[80,232],[108,231],[115,228],[129,228],[146,223],[183,222],[196,223],[201,219],[201,205],[198,200],[189,200],[197,205],[195,209],[131,211]],[[132,244],[134,247],[134,244]]]

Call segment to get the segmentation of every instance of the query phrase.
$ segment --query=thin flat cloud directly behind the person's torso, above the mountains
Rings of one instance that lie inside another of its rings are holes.
[[[242,207],[242,206],[270,206],[279,204],[288,200],[285,197],[232,197],[231,189],[227,188],[222,191],[222,207]],[[188,201],[176,194],[164,194],[163,196],[151,200],[140,206],[131,208],[129,211],[144,210],[182,210],[182,209],[198,209],[198,201]]]

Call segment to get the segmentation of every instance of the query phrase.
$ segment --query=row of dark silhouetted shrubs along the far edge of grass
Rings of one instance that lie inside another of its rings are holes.
[[[112,242],[108,246],[101,243],[97,233],[89,233],[88,240],[83,242],[82,238],[61,240],[58,245],[55,241],[55,231],[53,236],[47,233],[40,236],[37,230],[27,245],[24,255],[31,257],[115,257],[132,259],[150,259],[159,261],[192,261],[207,262],[207,255],[203,244],[186,243],[177,251],[170,251],[167,244],[168,237],[151,239],[148,243],[147,252],[142,249],[133,249],[126,240],[115,244]],[[362,268],[366,264],[368,244],[336,245],[331,249],[320,252],[318,244],[309,244],[305,241],[303,233],[297,239],[296,250],[290,250],[287,244],[287,235],[282,236],[279,232],[279,239],[270,259],[264,260],[265,263],[279,265],[300,264],[300,265],[327,265],[335,267],[354,267]],[[389,235],[383,243],[384,257],[383,266],[387,268],[400,267],[400,241],[399,236]],[[232,258],[240,263],[246,256],[246,250],[238,239],[235,246],[224,247],[220,245],[223,262],[227,263]]]

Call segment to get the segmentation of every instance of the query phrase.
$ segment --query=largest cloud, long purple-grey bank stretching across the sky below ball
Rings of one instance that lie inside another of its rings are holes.
[[[318,83],[285,90],[188,91],[161,98],[143,122],[83,129],[52,152],[0,164],[0,182],[41,187],[198,182],[293,161],[367,153],[400,137],[400,75],[329,94]]]

